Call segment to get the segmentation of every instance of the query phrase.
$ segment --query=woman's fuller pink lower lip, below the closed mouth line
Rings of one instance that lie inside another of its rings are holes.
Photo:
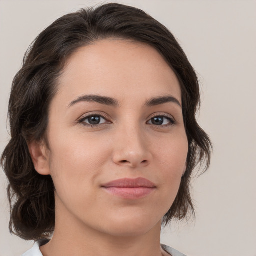
[[[107,192],[125,199],[139,199],[150,194],[154,187],[103,187]]]

